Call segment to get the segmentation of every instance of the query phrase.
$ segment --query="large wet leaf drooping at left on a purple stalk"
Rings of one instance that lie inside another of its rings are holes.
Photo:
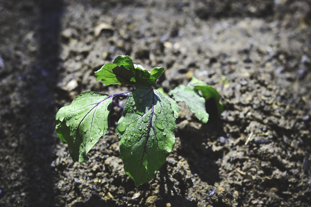
[[[104,93],[83,92],[69,106],[56,114],[56,132],[68,143],[74,162],[85,162],[87,153],[99,138],[107,133],[113,96]]]

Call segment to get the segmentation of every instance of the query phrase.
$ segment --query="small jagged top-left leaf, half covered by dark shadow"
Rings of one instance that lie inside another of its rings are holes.
[[[135,77],[132,71],[128,68],[124,68],[123,65],[117,64],[105,64],[101,69],[95,72],[96,80],[101,79],[101,83],[106,85],[129,85],[135,84]]]

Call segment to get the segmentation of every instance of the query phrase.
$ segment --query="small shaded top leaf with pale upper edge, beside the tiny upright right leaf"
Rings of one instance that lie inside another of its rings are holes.
[[[135,86],[154,86],[156,85],[156,78],[148,72],[148,70],[144,69],[141,65],[134,64],[136,69],[135,71]]]

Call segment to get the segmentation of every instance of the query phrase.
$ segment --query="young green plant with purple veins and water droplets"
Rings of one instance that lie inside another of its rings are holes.
[[[205,98],[213,97],[221,113],[218,92],[196,78],[187,86],[181,85],[169,92],[175,100],[162,95],[163,90],[161,93],[152,86],[163,72],[164,67],[148,72],[141,65],[133,64],[129,56],[123,55],[117,56],[113,64],[105,64],[96,71],[96,80],[106,85],[132,84],[136,89],[131,93],[114,95],[83,92],[69,106],[57,112],[56,133],[60,140],[68,143],[72,160],[87,161],[87,153],[108,132],[114,99],[126,97],[116,134],[120,140],[124,171],[134,180],[135,186],[149,182],[173,149],[180,110],[176,101],[185,101],[203,123],[208,120]]]

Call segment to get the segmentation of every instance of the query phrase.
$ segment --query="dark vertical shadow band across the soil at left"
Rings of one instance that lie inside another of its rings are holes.
[[[55,145],[55,101],[53,88],[57,83],[58,36],[62,15],[62,0],[41,0],[39,39],[40,47],[37,62],[28,76],[28,118],[24,158],[28,175],[26,191],[28,204],[40,206],[55,204],[56,192],[53,191],[53,160]],[[26,119],[27,120],[27,119]]]

